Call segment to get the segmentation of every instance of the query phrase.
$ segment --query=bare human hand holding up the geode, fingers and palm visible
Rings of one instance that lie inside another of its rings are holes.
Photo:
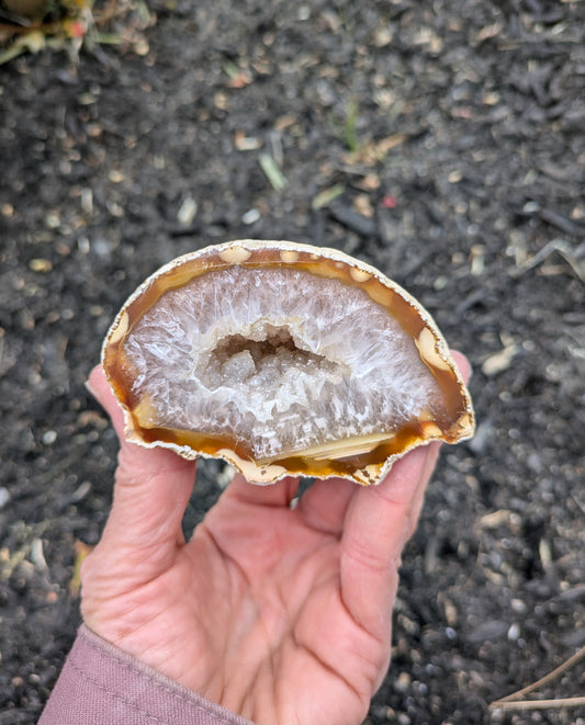
[[[317,480],[294,509],[297,479],[236,475],[185,542],[195,464],[125,441],[101,367],[89,383],[121,450],[112,511],[82,566],[86,624],[258,725],[360,723],[389,665],[401,553],[439,444],[376,487]]]

